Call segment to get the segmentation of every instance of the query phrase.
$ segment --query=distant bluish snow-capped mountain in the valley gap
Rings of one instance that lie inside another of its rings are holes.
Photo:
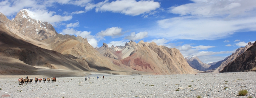
[[[200,71],[205,71],[205,69],[209,68],[210,66],[206,63],[203,63],[197,56],[185,56],[184,58],[186,59],[189,66]]]

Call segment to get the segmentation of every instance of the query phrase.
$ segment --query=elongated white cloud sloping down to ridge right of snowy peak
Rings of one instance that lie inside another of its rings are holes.
[[[73,28],[71,29],[67,28],[62,30],[60,34],[81,36],[82,38],[87,38],[88,43],[91,44],[91,46],[93,46],[94,48],[98,46],[98,41],[95,39],[94,36],[91,35],[91,32],[78,31],[78,30],[74,30]]]

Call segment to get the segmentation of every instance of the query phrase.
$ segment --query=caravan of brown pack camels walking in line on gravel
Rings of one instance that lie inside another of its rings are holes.
[[[42,80],[43,80],[44,83],[46,82],[46,80],[47,80],[47,83],[49,83],[50,80],[52,80],[52,82],[56,82],[56,77],[43,78],[43,79],[42,78],[38,78],[38,77],[34,78],[35,83],[37,83],[38,81],[39,81],[39,83],[41,83]],[[28,77],[26,77],[26,78],[19,78],[18,81],[19,81],[19,85],[23,85],[25,83],[26,84],[33,83],[33,78],[28,78]]]

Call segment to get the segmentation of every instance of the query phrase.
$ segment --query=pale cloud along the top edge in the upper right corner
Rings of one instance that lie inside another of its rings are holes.
[[[169,12],[180,15],[222,16],[250,14],[256,8],[255,0],[191,0],[194,3],[172,6]]]

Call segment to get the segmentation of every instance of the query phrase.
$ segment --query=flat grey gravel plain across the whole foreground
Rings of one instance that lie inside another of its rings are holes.
[[[143,75],[143,78],[104,75],[103,79],[102,76],[91,74],[91,80],[86,76],[87,81],[85,77],[57,77],[55,83],[33,81],[23,85],[18,84],[18,78],[0,79],[0,95],[5,98],[256,98],[256,72]],[[239,96],[239,90],[247,90],[247,96]]]

